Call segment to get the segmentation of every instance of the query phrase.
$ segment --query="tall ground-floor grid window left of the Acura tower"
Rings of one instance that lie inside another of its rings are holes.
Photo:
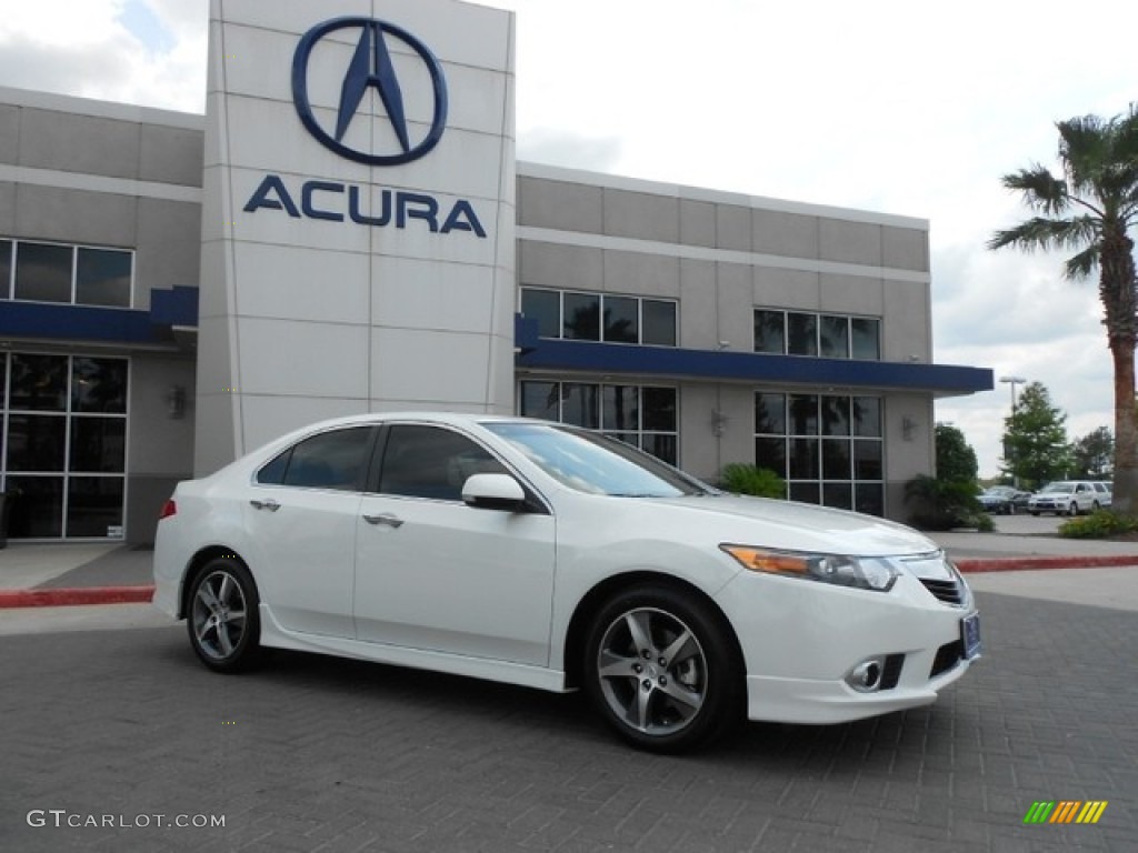
[[[126,359],[13,353],[0,378],[8,535],[122,538]]]

